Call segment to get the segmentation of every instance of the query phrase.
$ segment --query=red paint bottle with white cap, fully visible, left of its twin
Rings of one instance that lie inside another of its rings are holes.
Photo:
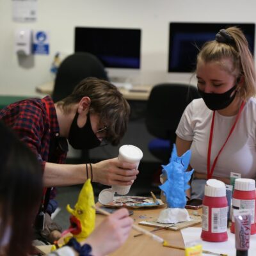
[[[216,179],[207,180],[204,190],[201,233],[204,241],[227,241],[227,213],[225,183]]]

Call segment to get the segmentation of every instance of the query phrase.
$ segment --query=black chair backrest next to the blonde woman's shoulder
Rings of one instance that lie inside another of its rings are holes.
[[[200,98],[195,86],[190,84],[157,84],[152,88],[147,102],[146,126],[157,138],[175,143],[175,131],[186,106]]]

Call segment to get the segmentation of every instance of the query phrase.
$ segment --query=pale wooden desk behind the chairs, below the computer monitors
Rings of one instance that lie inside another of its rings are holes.
[[[54,82],[45,83],[36,87],[36,92],[52,94]],[[118,88],[127,100],[148,100],[152,86],[134,86],[131,90]]]

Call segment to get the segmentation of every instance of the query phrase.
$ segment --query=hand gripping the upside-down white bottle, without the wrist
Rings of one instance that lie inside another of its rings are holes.
[[[124,163],[118,158],[100,161],[92,164],[93,181],[104,185],[131,185],[139,171],[136,164]]]

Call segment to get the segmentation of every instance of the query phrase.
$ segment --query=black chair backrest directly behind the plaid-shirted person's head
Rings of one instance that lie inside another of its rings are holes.
[[[61,100],[74,90],[86,77],[97,77],[108,81],[108,76],[100,60],[88,52],[76,52],[63,60],[58,68],[52,99]]]

